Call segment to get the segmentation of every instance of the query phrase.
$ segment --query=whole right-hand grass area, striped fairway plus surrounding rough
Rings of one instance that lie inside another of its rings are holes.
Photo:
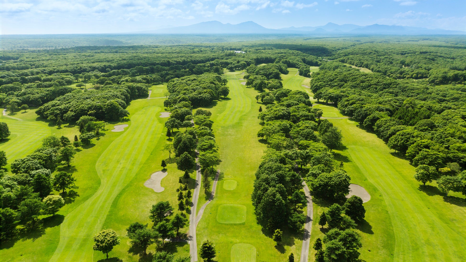
[[[290,88],[310,93],[301,85]],[[342,116],[335,107],[317,107],[322,108],[324,117]],[[412,178],[415,172],[409,161],[395,155],[375,134],[349,119],[330,121],[342,130],[346,146],[335,151],[336,160],[344,162],[351,182],[363,186],[371,195],[371,200],[364,203],[365,222],[357,228],[363,237],[361,258],[453,262],[466,257],[464,196],[454,193],[444,199],[437,188],[419,186]],[[314,204],[314,217],[319,217],[322,210]],[[325,229],[314,220],[312,241],[322,238],[323,232]],[[310,253],[311,261],[313,255]]]

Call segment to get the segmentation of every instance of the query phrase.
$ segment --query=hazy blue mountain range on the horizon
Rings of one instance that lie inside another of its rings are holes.
[[[232,25],[219,21],[201,22],[185,27],[171,27],[158,30],[133,32],[137,34],[466,34],[463,31],[428,29],[424,27],[387,26],[373,24],[357,26],[328,23],[318,27],[287,27],[270,29],[253,21]]]

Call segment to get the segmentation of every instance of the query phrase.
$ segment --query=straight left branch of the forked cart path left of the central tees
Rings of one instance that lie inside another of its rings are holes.
[[[191,255],[191,261],[198,261],[198,242],[196,240],[196,209],[198,207],[199,190],[201,182],[201,171],[199,167],[199,158],[196,158],[196,185],[194,187],[194,193],[192,194],[192,207],[191,215],[189,216],[189,255]]]

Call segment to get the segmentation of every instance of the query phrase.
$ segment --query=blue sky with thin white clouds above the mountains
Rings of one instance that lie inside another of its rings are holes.
[[[1,34],[119,33],[218,20],[466,31],[466,0],[0,0]]]

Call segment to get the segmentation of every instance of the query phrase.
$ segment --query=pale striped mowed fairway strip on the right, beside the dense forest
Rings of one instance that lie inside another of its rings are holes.
[[[414,168],[390,155],[375,134],[344,119],[332,122],[342,129],[351,159],[384,197],[395,235],[394,261],[460,261],[466,255],[459,244],[466,242],[465,237],[430,209],[449,204],[438,202],[436,207],[428,203],[430,196],[420,192],[412,179]]]

